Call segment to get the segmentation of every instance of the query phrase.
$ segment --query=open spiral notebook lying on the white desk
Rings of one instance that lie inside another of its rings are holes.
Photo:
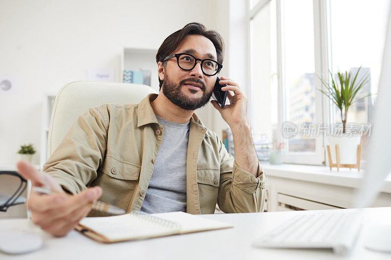
[[[233,225],[180,211],[158,214],[133,211],[119,216],[84,218],[76,230],[93,240],[113,243],[228,227]]]

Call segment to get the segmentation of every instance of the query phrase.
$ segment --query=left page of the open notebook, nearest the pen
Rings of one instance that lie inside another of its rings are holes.
[[[148,215],[147,215],[148,216]],[[145,216],[144,216],[145,217]],[[83,226],[109,240],[134,240],[178,234],[178,228],[132,214],[112,217],[84,218]]]

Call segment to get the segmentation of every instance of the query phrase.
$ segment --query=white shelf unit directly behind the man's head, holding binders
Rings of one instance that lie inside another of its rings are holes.
[[[157,50],[155,49],[124,47],[121,55],[120,81],[123,82],[124,70],[150,70],[151,87],[159,91],[156,53]]]

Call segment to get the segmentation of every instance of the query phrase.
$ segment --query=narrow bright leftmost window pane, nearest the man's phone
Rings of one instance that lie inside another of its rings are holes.
[[[252,20],[253,133],[259,159],[267,159],[268,145],[276,140],[277,30],[276,1],[272,0]],[[257,146],[257,143],[259,144]]]

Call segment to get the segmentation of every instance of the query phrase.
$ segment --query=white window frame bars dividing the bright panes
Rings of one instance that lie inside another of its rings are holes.
[[[282,3],[281,0],[276,1],[276,25],[277,25],[277,72],[278,72],[278,130],[277,130],[277,141],[283,142],[282,138],[282,124],[285,121],[286,111],[286,100],[285,96],[285,82],[284,82],[284,36],[283,36],[283,14],[282,14]],[[252,0],[248,1],[249,12],[248,12],[248,23],[249,23],[249,82],[250,82],[250,124],[253,125],[254,120],[254,97],[253,93],[253,75],[251,73],[253,68],[253,19],[257,14],[261,12],[268,4],[271,3],[271,0],[260,0],[253,8]],[[328,24],[329,19],[329,5],[328,0],[313,0],[313,19],[314,19],[314,57],[315,57],[315,74],[328,76],[328,65],[329,65],[329,55],[328,49],[330,49],[330,41],[328,38],[330,26]],[[326,76],[326,77],[327,77]],[[315,89],[324,89],[324,86],[321,84],[321,81],[315,77],[314,78]],[[315,91],[315,118],[316,124],[327,124],[330,123],[330,110],[329,110],[329,100],[327,97],[322,95],[320,91]],[[318,136],[315,137],[315,152],[287,152],[283,151],[282,161],[284,163],[298,163],[298,164],[312,164],[312,165],[322,165],[326,162],[326,153],[325,153],[325,139],[326,137]]]

